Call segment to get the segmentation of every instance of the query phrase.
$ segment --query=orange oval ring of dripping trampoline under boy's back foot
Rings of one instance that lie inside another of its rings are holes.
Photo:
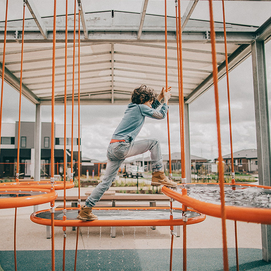
[[[95,210],[157,210],[157,209],[168,209],[169,207],[93,207],[93,211]],[[63,210],[63,208],[56,208],[55,211]],[[80,210],[79,208],[67,208],[67,210]],[[182,208],[173,208],[173,210],[182,210]],[[195,210],[189,209],[188,211],[195,212]],[[41,212],[50,212],[50,209],[34,212],[31,214],[30,219],[31,221],[41,224],[50,226],[51,220],[46,218],[40,218],[37,217],[37,214],[40,214]],[[170,212],[168,213],[168,217],[170,217]],[[196,224],[199,222],[204,221],[206,216],[204,214],[200,214],[198,217],[188,218],[188,221],[186,222],[187,225],[190,224]],[[54,226],[56,227],[131,227],[131,226],[178,226],[183,225],[185,222],[183,222],[182,219],[146,219],[146,220],[125,220],[125,219],[119,219],[119,220],[93,220],[93,221],[81,221],[81,220],[56,220],[54,219]]]

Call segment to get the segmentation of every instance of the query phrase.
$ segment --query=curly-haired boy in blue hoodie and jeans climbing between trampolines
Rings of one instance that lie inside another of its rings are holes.
[[[162,164],[163,157],[159,141],[156,139],[134,141],[144,124],[145,117],[154,119],[163,119],[166,117],[168,110],[167,101],[170,99],[170,96],[170,88],[167,92],[163,88],[158,97],[153,89],[145,85],[134,89],[131,97],[132,102],[128,104],[124,117],[112,135],[108,146],[108,162],[105,176],[102,182],[96,186],[91,195],[86,199],[86,204],[81,207],[81,211],[77,217],[78,219],[83,221],[98,219],[98,217],[92,213],[92,207],[101,199],[104,192],[109,189],[116,178],[122,162],[127,157],[142,154],[150,150],[153,168],[151,185],[177,186],[176,182],[169,180],[164,174]],[[162,108],[159,111],[155,110],[159,107],[163,98],[164,104]]]

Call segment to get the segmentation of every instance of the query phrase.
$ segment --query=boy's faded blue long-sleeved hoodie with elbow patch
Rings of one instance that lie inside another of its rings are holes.
[[[158,120],[166,117],[168,105],[164,103],[159,111],[155,110],[159,105],[160,102],[157,100],[151,105],[152,108],[144,104],[128,104],[112,139],[134,141],[144,124],[145,117]]]

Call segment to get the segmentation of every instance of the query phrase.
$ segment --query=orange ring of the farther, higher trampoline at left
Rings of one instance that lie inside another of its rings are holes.
[[[55,190],[63,190],[64,189],[64,182],[63,181],[55,181],[53,183]],[[19,187],[22,188],[37,188],[37,189],[50,189],[51,182],[48,181],[29,181],[29,182],[8,182],[8,183],[0,183],[0,188],[14,188],[18,189]],[[66,189],[70,189],[74,187],[74,183],[72,181],[66,182]]]

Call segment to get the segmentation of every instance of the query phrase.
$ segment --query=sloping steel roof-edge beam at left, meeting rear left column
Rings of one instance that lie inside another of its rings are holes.
[[[2,63],[0,62],[0,73],[2,75]],[[5,81],[11,85],[17,91],[20,91],[20,79],[13,75],[10,70],[5,67]],[[27,87],[22,83],[22,95],[24,95],[27,99],[29,99],[34,104],[39,104],[39,98]]]

